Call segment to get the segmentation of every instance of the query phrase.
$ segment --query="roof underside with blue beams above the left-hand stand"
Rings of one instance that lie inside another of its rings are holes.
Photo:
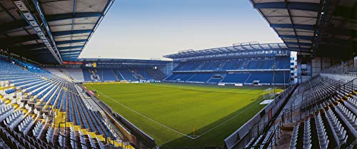
[[[76,61],[114,0],[1,0],[0,48],[39,63]]]

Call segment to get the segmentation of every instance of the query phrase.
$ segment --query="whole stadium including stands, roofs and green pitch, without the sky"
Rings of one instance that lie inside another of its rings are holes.
[[[161,60],[80,56],[118,1],[1,0],[0,148],[356,148],[357,1],[245,1],[281,42]]]

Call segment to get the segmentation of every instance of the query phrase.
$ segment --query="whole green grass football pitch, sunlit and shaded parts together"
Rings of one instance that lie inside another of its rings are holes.
[[[86,84],[101,101],[161,146],[223,145],[266,105],[263,86],[175,83]]]

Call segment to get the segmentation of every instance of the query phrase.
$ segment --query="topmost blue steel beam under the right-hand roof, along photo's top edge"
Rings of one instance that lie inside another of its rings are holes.
[[[320,4],[308,2],[268,2],[254,4],[255,9],[296,9],[301,11],[315,11],[320,10]]]

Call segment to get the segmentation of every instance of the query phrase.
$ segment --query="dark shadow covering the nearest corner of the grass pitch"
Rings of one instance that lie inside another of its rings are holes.
[[[195,137],[197,137],[198,135],[199,137],[195,140],[186,136],[182,136],[181,138],[176,138],[175,140],[171,140],[170,142],[161,145],[161,148],[223,147],[223,140],[228,137],[228,135],[231,135],[231,133],[240,128],[241,125],[246,123],[249,119],[253,117],[253,115],[256,115],[258,111],[261,111],[261,109],[266,106],[259,104],[261,103],[261,101],[263,101],[263,96],[259,96],[258,98],[253,99],[252,101],[252,103],[249,103],[247,106],[244,106],[238,111],[226,115],[225,117],[196,130]],[[209,132],[205,133],[207,131]],[[193,137],[193,133],[188,133],[187,135]]]

